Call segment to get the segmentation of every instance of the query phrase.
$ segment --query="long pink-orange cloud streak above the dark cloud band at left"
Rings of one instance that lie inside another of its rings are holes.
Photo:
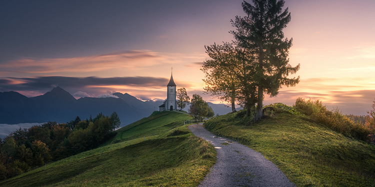
[[[0,68],[1,72],[33,74],[82,73],[119,68],[144,68],[165,62],[173,63],[173,57],[149,50],[131,50],[75,58],[25,58],[0,64]]]

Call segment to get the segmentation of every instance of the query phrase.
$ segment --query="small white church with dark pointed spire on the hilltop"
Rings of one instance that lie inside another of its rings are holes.
[[[168,85],[166,85],[166,99],[162,105],[159,106],[159,111],[173,111],[177,110],[176,101],[176,84],[173,81],[173,75],[170,74],[170,80]]]

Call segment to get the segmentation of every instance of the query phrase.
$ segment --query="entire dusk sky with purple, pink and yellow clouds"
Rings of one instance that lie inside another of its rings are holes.
[[[121,92],[163,100],[173,67],[177,88],[202,93],[204,45],[231,41],[242,0],[0,1],[0,92],[27,97],[59,86],[75,98]],[[251,2],[250,0],[248,2]],[[374,0],[285,0],[300,64],[263,104],[319,99],[329,109],[365,115],[375,99]]]

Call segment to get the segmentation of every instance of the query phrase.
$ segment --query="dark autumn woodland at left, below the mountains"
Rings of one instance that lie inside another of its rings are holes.
[[[56,122],[32,126],[0,139],[0,180],[97,147],[114,135],[120,125],[116,112],[95,118],[76,117],[66,124]]]

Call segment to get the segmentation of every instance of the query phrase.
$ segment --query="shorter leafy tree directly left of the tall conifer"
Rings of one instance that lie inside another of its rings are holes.
[[[205,92],[230,102],[232,112],[235,112],[236,100],[244,108],[252,108],[256,102],[256,92],[254,64],[250,56],[245,55],[248,49],[234,42],[213,44],[205,48],[211,58],[203,62],[201,69],[206,74],[206,79],[203,79],[206,83]],[[250,110],[247,112],[249,115]]]

